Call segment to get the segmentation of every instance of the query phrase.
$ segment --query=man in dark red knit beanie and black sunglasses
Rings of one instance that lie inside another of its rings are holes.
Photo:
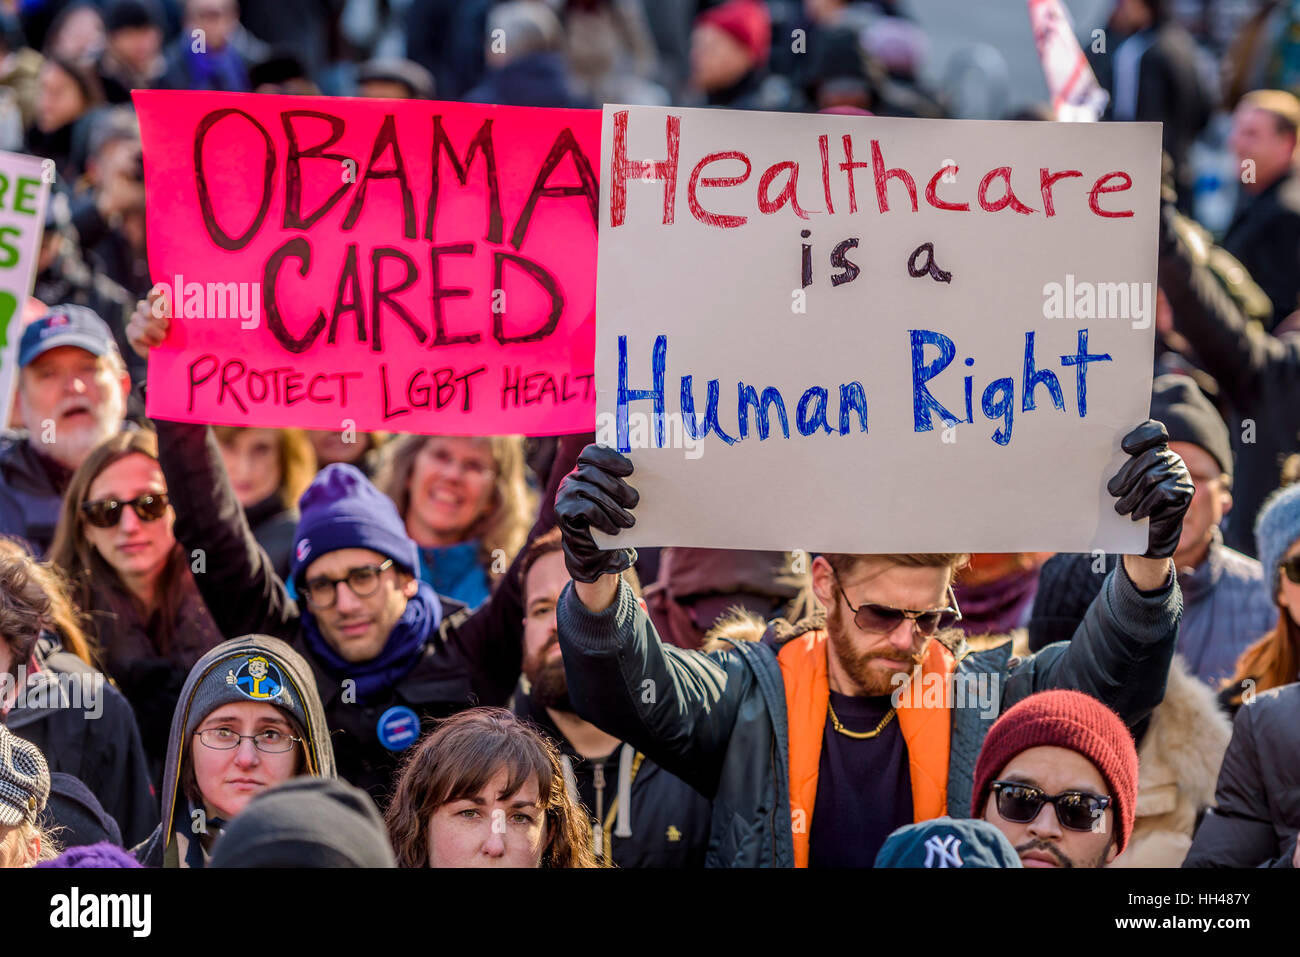
[[[1031,694],[989,729],[971,814],[1026,867],[1104,867],[1134,830],[1138,749],[1114,711],[1074,690]]]

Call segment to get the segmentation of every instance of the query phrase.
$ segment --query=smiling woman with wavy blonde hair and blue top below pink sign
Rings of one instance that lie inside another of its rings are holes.
[[[528,538],[536,514],[519,436],[406,436],[385,449],[374,484],[420,547],[420,580],[482,605]]]

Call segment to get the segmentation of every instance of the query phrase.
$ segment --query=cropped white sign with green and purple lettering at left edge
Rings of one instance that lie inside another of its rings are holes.
[[[22,307],[36,274],[51,182],[49,160],[0,152],[0,423],[13,406]]]

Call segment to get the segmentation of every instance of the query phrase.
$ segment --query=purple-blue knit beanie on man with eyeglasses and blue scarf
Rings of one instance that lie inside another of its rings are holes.
[[[290,576],[302,581],[307,566],[339,549],[370,549],[416,573],[420,558],[393,499],[355,465],[322,468],[298,499],[298,531]]]

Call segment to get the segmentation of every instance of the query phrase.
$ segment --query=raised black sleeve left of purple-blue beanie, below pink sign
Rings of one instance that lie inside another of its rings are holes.
[[[176,537],[191,557],[203,553],[203,571],[194,580],[217,628],[226,638],[270,635],[292,641],[298,606],[248,528],[212,429],[162,420],[156,426]]]

